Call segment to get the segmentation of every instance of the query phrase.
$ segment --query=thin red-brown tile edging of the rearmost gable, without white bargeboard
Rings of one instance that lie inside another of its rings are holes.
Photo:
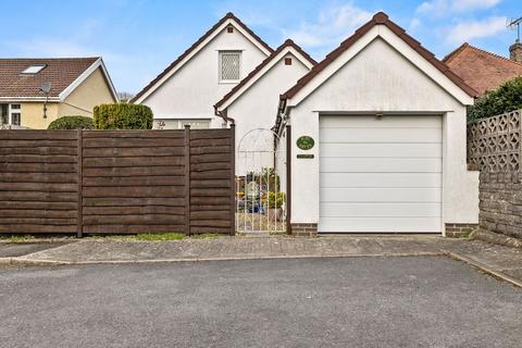
[[[246,26],[238,17],[234,15],[234,13],[228,12],[223,18],[221,18],[217,23],[215,23],[207,33],[203,34],[196,42],[192,44],[185,52],[182,53],[174,62],[171,63],[163,72],[161,72],[154,79],[152,79],[144,89],[141,89],[133,99],[130,99],[130,103],[138,100],[142,95],[145,95],[150,88],[152,88],[163,76],[165,76],[171,70],[173,70],[177,64],[179,64],[185,57],[190,54],[194,50],[198,48],[198,46],[203,42],[209,36],[212,35],[223,23],[227,20],[234,20],[243,29],[245,29],[249,35],[251,35],[261,46],[263,46],[269,52],[273,52],[274,50],[264,42],[256,33],[253,33],[248,26]]]

